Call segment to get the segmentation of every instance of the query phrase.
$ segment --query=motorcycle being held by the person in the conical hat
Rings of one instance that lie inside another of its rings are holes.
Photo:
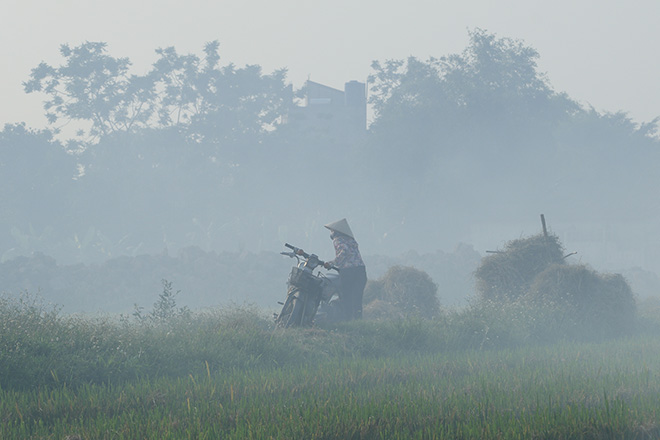
[[[291,252],[280,252],[290,258],[295,258],[297,264],[291,268],[287,281],[286,300],[278,302],[282,305],[282,311],[275,317],[277,328],[309,327],[315,320],[319,306],[323,305],[322,317],[327,319],[336,315],[336,298],[339,296],[341,286],[339,274],[323,274],[314,270],[325,266],[325,262],[319,260],[314,254],[308,254],[302,249],[284,244]],[[302,259],[300,258],[302,257]],[[334,266],[330,269],[339,272]],[[333,298],[335,300],[333,301]]]

